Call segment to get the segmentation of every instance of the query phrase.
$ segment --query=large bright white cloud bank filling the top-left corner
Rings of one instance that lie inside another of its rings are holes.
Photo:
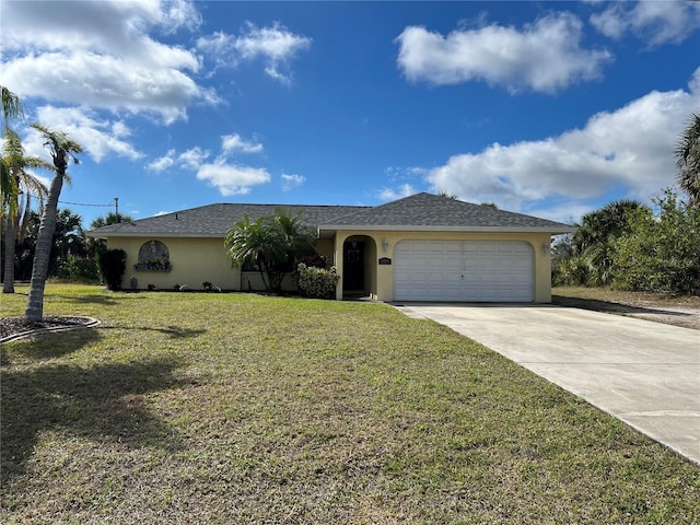
[[[21,96],[186,118],[191,101],[218,97],[188,75],[199,69],[186,49],[152,32],[194,28],[199,14],[178,0],[2,3],[3,84]]]

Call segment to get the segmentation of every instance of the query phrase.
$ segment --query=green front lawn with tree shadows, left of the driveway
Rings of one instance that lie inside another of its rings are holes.
[[[390,306],[50,284],[45,315],[103,324],[3,346],[2,523],[700,523],[697,466]]]

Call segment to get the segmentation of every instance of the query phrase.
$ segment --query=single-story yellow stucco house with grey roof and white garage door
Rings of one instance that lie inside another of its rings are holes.
[[[231,268],[223,237],[244,214],[278,208],[317,229],[316,248],[340,276],[337,299],[548,303],[551,236],[575,231],[423,192],[377,207],[210,205],[88,235],[127,253],[126,288],[262,290],[256,269]]]

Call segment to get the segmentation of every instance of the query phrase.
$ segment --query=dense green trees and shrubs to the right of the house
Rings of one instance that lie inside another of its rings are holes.
[[[675,154],[685,198],[667,188],[652,206],[618,200],[583,215],[552,247],[555,285],[700,293],[700,114]]]

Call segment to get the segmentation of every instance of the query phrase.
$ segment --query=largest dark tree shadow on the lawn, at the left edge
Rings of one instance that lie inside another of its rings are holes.
[[[144,406],[149,393],[184,385],[173,375],[179,365],[163,359],[4,371],[0,384],[0,485],[25,471],[38,434],[46,430],[95,442],[179,450],[176,432]]]

